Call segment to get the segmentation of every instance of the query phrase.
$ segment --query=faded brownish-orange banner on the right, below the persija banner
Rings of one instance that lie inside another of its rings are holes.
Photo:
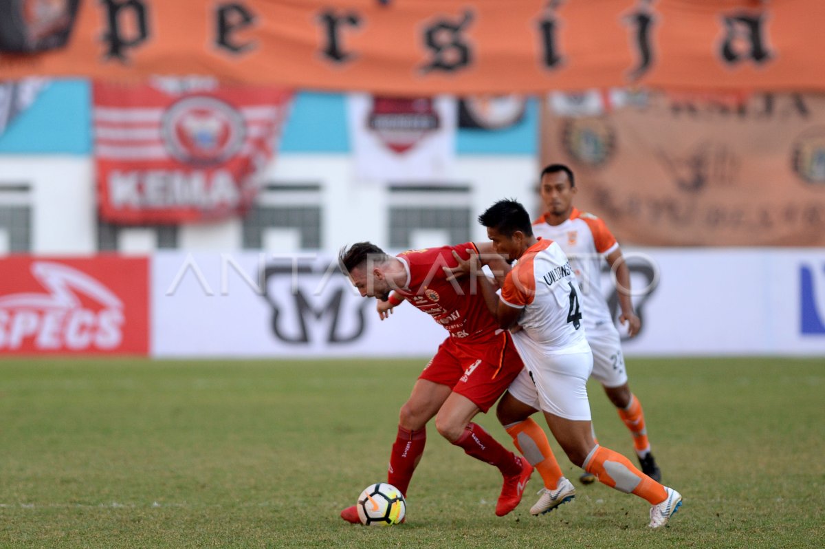
[[[825,95],[550,97],[542,125],[542,163],[625,244],[825,246]]]

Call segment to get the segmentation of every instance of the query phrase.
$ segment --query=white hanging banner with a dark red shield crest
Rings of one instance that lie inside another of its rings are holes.
[[[444,182],[455,163],[455,97],[353,93],[347,118],[356,174],[383,182]]]

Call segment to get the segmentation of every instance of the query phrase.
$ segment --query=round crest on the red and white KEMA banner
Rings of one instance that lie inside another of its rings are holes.
[[[214,97],[186,97],[163,115],[163,141],[181,162],[222,163],[238,153],[245,134],[243,116]]]

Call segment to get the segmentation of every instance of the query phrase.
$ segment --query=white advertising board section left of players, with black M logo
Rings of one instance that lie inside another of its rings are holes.
[[[382,322],[334,256],[158,252],[151,287],[156,357],[426,357],[447,335],[408,305]]]

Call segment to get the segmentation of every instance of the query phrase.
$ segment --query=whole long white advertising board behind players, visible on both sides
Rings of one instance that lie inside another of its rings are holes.
[[[643,320],[625,354],[825,357],[822,250],[625,256]],[[446,337],[408,304],[381,321],[332,256],[156,253],[151,288],[155,357],[427,357]]]

